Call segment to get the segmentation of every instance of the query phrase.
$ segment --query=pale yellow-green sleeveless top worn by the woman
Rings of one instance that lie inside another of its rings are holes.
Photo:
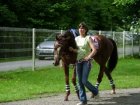
[[[76,44],[78,46],[77,60],[83,59],[90,53],[91,48],[89,46],[89,38],[90,38],[89,35],[85,37],[77,36],[75,38]]]

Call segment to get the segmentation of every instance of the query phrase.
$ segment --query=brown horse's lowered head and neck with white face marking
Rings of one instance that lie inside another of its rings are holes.
[[[74,35],[68,30],[63,34],[58,34],[54,44],[54,65],[59,65],[60,59],[70,53],[69,47],[75,41]]]

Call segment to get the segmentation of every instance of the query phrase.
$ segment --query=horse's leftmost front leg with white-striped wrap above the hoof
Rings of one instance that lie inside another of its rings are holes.
[[[64,64],[64,73],[65,73],[65,83],[66,83],[66,96],[64,101],[68,101],[68,96],[70,95],[70,85],[69,85],[69,66]]]

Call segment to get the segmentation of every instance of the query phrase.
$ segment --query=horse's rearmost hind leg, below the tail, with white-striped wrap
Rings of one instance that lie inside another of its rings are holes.
[[[112,76],[111,76],[111,73],[108,71],[107,68],[105,69],[105,74],[106,74],[107,78],[108,78],[109,81],[110,81],[110,85],[111,85],[111,87],[112,87],[112,94],[115,94],[115,93],[116,93],[116,92],[115,92],[115,84],[114,84],[113,78],[112,78]]]

